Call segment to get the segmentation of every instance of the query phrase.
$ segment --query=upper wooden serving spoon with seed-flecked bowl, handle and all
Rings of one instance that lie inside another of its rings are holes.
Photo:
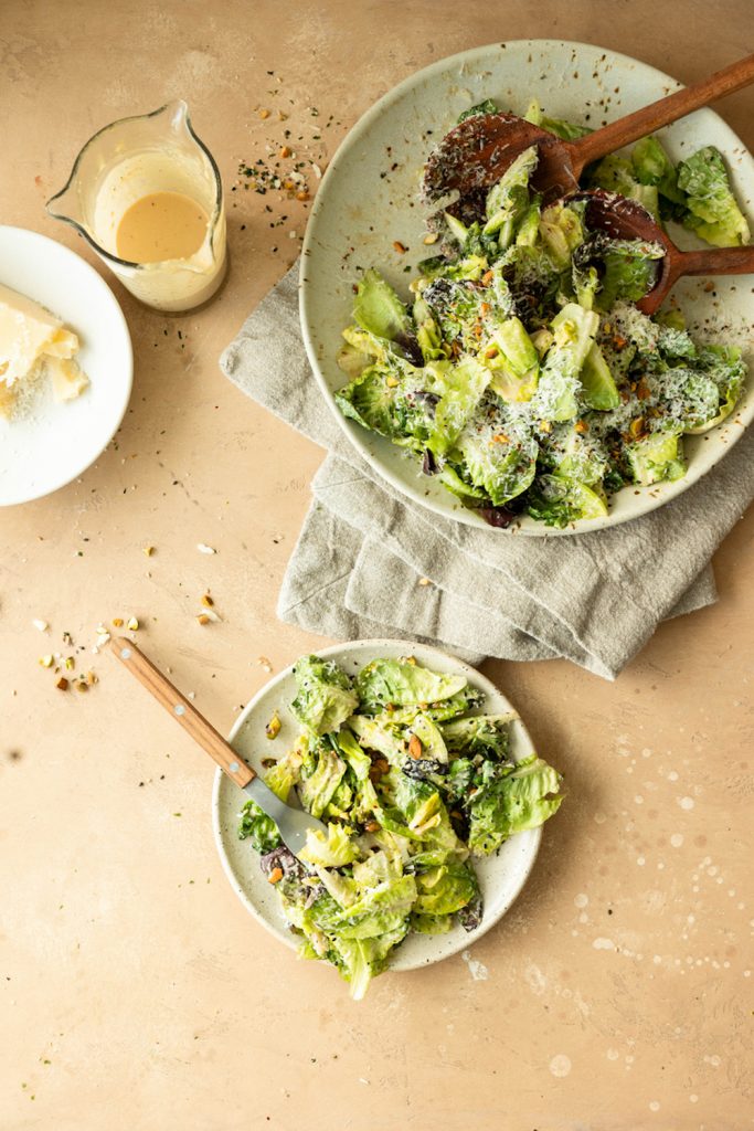
[[[575,141],[564,141],[515,114],[467,118],[430,155],[423,195],[433,202],[457,191],[460,193],[458,211],[461,218],[465,218],[463,214],[471,218],[475,210],[480,210],[483,191],[500,180],[520,153],[536,145],[539,161],[531,181],[534,188],[546,199],[567,196],[579,188],[579,178],[590,162],[751,83],[754,83],[754,54]]]

